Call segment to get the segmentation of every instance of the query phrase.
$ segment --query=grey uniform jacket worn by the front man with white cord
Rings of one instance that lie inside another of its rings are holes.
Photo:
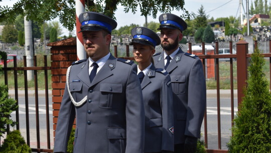
[[[118,61],[122,60],[122,61]],[[90,84],[89,60],[72,65],[69,90],[63,95],[55,135],[54,151],[66,152],[76,116],[74,153],[143,152],[145,113],[137,65],[110,55]]]

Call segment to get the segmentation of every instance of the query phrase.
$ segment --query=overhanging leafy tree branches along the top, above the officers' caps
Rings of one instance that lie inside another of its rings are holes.
[[[114,17],[114,12],[118,5],[124,7],[124,12],[131,11],[133,14],[140,8],[142,16],[152,15],[156,18],[158,12],[169,13],[174,9],[183,11],[181,15],[185,19],[191,19],[193,14],[184,8],[184,0],[145,0],[121,1],[121,0],[85,0],[86,11],[96,11],[109,17]],[[42,25],[44,21],[50,21],[59,18],[61,25],[72,31],[75,25],[75,1],[74,0],[19,0],[13,7],[0,7],[0,22],[14,22],[16,15],[21,14],[27,17],[27,20],[37,21]]]

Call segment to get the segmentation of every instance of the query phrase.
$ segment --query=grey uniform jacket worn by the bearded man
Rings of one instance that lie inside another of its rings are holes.
[[[164,53],[154,55],[156,67],[165,68]],[[200,137],[206,109],[206,83],[198,56],[180,48],[166,69],[170,74],[174,99],[175,144],[184,143],[185,135]]]

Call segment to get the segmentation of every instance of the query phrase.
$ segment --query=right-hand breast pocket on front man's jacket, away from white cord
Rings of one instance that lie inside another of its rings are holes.
[[[113,105],[114,98],[118,99],[120,93],[122,93],[122,84],[117,83],[101,83],[100,84],[100,102],[101,108],[116,108]]]

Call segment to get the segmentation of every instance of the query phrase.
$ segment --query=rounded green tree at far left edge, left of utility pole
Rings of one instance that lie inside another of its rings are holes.
[[[14,25],[6,25],[2,31],[2,41],[6,43],[14,43],[17,41],[17,30]]]

